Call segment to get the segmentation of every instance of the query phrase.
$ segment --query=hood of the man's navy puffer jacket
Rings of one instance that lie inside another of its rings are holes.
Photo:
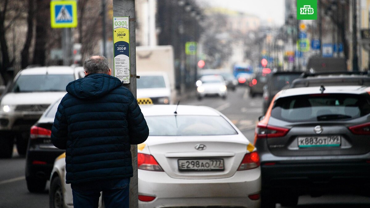
[[[120,87],[121,81],[108,74],[88,74],[67,85],[67,92],[78,98],[101,97]]]

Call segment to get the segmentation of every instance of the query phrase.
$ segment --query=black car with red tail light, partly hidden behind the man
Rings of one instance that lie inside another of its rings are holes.
[[[49,180],[54,160],[65,150],[51,143],[51,127],[60,100],[51,104],[40,119],[31,127],[26,153],[26,181],[30,192],[43,192]]]

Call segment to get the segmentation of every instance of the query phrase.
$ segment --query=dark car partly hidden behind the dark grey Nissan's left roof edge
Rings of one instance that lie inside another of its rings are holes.
[[[272,98],[283,87],[288,87],[293,80],[299,78],[302,72],[298,71],[278,71],[269,75],[268,83],[263,89],[263,113],[266,113]]]

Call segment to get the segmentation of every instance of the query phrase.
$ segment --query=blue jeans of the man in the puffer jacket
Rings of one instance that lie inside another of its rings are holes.
[[[129,208],[130,178],[71,184],[73,207],[97,208],[103,192],[105,208]]]

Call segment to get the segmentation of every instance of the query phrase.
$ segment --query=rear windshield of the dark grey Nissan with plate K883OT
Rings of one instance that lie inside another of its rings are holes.
[[[310,94],[276,100],[271,116],[284,121],[334,121],[370,113],[369,95]]]

